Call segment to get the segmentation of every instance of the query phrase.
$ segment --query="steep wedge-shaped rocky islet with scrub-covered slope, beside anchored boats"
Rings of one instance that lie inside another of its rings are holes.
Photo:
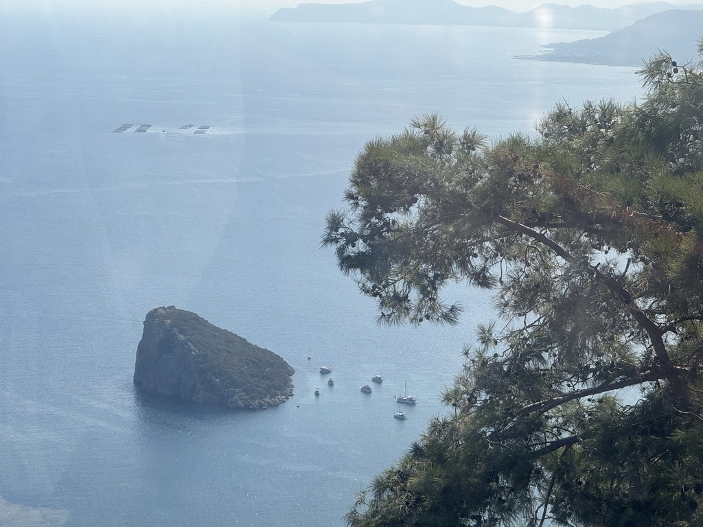
[[[146,315],[134,384],[148,393],[229,408],[269,408],[292,396],[280,356],[174,306]]]

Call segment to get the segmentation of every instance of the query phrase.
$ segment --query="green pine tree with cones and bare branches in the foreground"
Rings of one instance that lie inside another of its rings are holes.
[[[323,243],[378,320],[457,323],[455,282],[499,318],[351,526],[703,525],[701,67],[661,53],[641,103],[534,137],[429,115],[359,153]]]

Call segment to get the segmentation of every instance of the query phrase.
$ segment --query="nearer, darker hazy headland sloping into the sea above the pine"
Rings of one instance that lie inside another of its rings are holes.
[[[548,44],[544,47],[549,51],[529,58],[640,66],[643,59],[650,58],[658,51],[666,51],[678,63],[684,64],[696,57],[696,46],[701,37],[703,11],[671,9],[638,20],[605,37]]]

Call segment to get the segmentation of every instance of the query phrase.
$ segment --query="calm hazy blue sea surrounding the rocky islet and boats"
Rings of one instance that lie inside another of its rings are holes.
[[[456,327],[375,325],[319,245],[356,152],[425,112],[497,138],[559,100],[642,96],[631,68],[512,58],[599,33],[215,5],[0,17],[1,525],[342,526],[447,411],[492,316],[458,285]],[[138,393],[142,322],[172,304],[283,356],[295,396],[240,412]],[[419,403],[400,422],[406,383]]]

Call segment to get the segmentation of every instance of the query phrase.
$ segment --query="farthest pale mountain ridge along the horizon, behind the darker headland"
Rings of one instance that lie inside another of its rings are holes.
[[[615,31],[674,8],[703,10],[703,4],[673,6],[667,2],[633,4],[617,9],[544,4],[527,13],[496,6],[469,7],[453,0],[370,0],[358,4],[299,4],[278,9],[277,22],[356,22],[382,24],[481,25],[552,27]]]

